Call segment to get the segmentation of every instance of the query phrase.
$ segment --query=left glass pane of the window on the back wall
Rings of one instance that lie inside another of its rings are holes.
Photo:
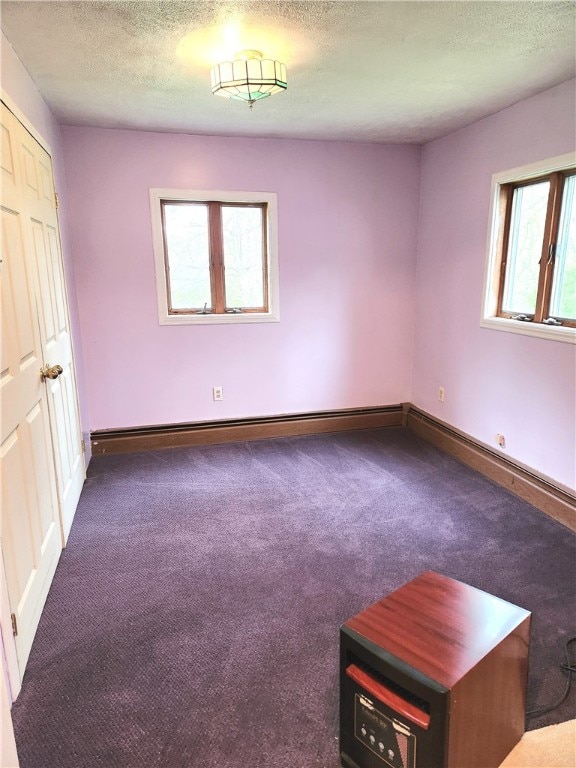
[[[211,308],[208,206],[164,203],[164,232],[171,309]]]

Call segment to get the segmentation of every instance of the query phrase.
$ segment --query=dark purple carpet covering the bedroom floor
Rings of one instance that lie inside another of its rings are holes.
[[[575,545],[402,428],[95,458],[13,708],[21,766],[337,768],[339,627],[427,569],[533,612],[545,706]]]

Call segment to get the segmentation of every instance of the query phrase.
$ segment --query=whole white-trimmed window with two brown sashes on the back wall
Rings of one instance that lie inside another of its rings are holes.
[[[274,192],[151,189],[161,325],[276,322]]]

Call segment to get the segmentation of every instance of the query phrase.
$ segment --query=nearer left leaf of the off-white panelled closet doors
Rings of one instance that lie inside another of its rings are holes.
[[[14,146],[16,121],[2,114],[3,148]],[[18,666],[24,671],[61,551],[58,498],[35,286],[26,259],[18,164],[3,157],[2,354],[0,372],[2,552],[10,610],[16,617]],[[7,172],[6,169],[9,169]],[[6,207],[6,203],[10,208]]]

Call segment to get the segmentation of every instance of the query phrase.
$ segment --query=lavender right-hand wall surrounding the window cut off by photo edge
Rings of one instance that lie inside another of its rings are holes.
[[[479,320],[492,174],[574,150],[574,85],[423,148],[412,394],[492,447],[503,433],[507,455],[572,488],[576,348]]]

